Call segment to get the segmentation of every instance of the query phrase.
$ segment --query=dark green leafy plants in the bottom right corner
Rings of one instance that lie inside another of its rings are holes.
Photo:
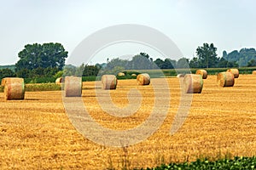
[[[171,169],[255,169],[256,157],[238,157],[234,159],[220,159],[218,161],[208,161],[207,159],[198,159],[190,163],[170,163],[160,167],[147,168],[147,170],[171,170]],[[143,168],[142,168],[143,170]]]

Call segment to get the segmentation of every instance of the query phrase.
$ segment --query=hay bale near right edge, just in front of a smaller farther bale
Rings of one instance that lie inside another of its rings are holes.
[[[235,84],[235,77],[232,72],[220,72],[217,75],[217,83],[219,87],[233,87]]]

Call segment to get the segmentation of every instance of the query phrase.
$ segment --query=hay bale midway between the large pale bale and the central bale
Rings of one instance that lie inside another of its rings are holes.
[[[102,89],[110,90],[116,89],[118,80],[114,75],[103,75],[102,76]]]

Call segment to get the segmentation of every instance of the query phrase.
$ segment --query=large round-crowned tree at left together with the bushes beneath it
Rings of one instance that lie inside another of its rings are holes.
[[[17,77],[53,77],[65,65],[67,51],[61,43],[27,44],[18,54]]]

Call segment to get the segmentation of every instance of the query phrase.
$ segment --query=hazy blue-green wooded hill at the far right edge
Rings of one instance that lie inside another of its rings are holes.
[[[239,66],[247,66],[249,61],[256,60],[256,51],[254,48],[241,48],[240,51],[234,50],[229,54],[224,51],[223,58],[230,62],[235,61]]]

